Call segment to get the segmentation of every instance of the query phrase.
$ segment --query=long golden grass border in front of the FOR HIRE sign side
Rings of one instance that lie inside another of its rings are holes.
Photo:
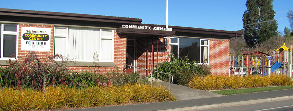
[[[46,93],[33,89],[2,88],[0,110],[54,110],[61,107],[96,107],[176,100],[166,87],[144,83],[84,89],[48,86],[45,90]]]

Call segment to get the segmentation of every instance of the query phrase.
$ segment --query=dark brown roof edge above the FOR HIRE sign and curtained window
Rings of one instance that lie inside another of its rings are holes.
[[[19,9],[8,9],[8,8],[0,8],[0,12],[3,13],[16,13],[16,14],[25,14],[25,15],[49,15],[56,16],[56,18],[64,18],[68,17],[76,18],[76,20],[83,19],[104,19],[105,20],[115,20],[115,21],[125,21],[125,23],[132,22],[140,24],[142,19],[139,18],[126,18],[126,17],[114,17],[114,16],[103,16],[103,15],[88,15],[88,14],[76,14],[76,13],[62,13],[62,12],[48,12],[48,11],[31,11],[31,10],[19,10]],[[33,17],[33,16],[32,16]],[[45,18],[45,17],[44,17]]]

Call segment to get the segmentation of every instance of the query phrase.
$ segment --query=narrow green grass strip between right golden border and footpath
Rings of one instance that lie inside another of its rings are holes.
[[[274,87],[247,88],[247,89],[227,89],[227,90],[212,91],[212,92],[222,94],[222,95],[233,95],[233,94],[242,94],[242,93],[274,91],[274,90],[282,90],[282,89],[293,89],[293,86],[274,86]]]

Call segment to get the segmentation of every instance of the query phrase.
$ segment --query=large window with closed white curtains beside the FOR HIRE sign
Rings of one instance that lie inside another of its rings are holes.
[[[96,28],[55,27],[54,55],[76,61],[93,61],[95,53],[100,62],[114,62],[114,30]]]

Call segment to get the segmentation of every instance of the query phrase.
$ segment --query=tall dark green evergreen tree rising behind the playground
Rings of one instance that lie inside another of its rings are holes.
[[[244,39],[250,47],[260,45],[265,40],[277,36],[277,21],[273,0],[247,0],[247,10],[243,14]]]

